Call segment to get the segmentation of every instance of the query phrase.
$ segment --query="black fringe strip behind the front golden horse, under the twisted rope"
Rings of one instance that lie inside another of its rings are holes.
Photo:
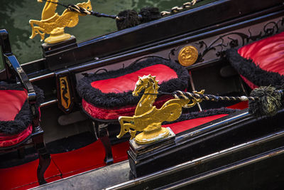
[[[221,115],[221,114],[232,114],[232,113],[237,112],[237,111],[239,111],[239,110],[222,107],[222,108],[219,108],[219,109],[202,110],[201,112],[189,112],[189,113],[180,115],[178,120],[175,120],[173,122],[163,122],[162,125],[168,125],[168,124],[172,124],[172,123],[175,123],[175,122],[182,122],[182,121],[185,121],[185,120],[192,120],[192,119],[199,118],[199,117],[208,117],[208,116],[212,116],[212,115]]]

